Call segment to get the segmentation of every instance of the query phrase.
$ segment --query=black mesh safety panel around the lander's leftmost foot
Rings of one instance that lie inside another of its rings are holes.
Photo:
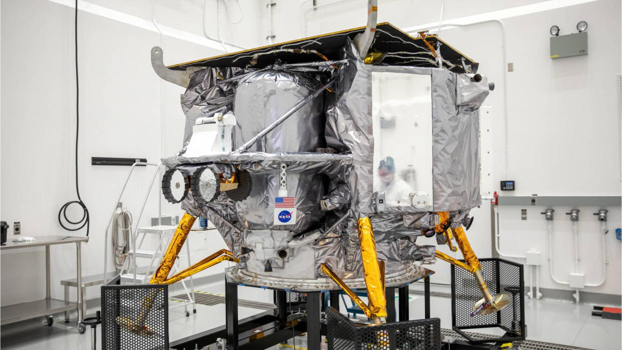
[[[168,285],[101,287],[101,343],[106,350],[169,349]]]

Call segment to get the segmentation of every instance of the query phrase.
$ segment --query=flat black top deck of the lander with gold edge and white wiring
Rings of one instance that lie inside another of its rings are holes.
[[[282,42],[279,44],[251,48],[249,50],[226,53],[225,55],[179,63],[177,65],[169,66],[168,68],[172,70],[185,70],[187,67],[263,68],[266,65],[274,63],[276,59],[287,63],[309,62],[310,60],[317,58],[317,53],[312,52],[313,50],[322,54],[328,60],[340,60],[343,58],[340,54],[340,50],[345,45],[346,37],[353,39],[357,34],[364,32],[364,30],[365,27],[340,30],[338,32],[316,35],[304,39],[297,39],[289,42]],[[450,63],[450,65],[447,65],[447,68],[450,71],[455,73],[465,73],[462,65],[462,58],[465,59],[466,65],[475,63],[475,61],[471,58],[466,57],[462,52],[459,52],[436,35],[426,36],[425,41],[435,48],[437,47],[437,43],[440,43],[440,54],[443,61]],[[301,48],[308,51],[302,53],[292,52],[294,49]],[[273,52],[271,55],[256,56],[258,53],[284,49],[289,50]],[[424,39],[421,37],[411,37],[411,35],[406,34],[406,32],[402,32],[402,30],[388,22],[384,22],[376,26],[375,39],[369,52],[374,51],[381,53],[391,52],[396,54],[404,54],[387,55],[387,57],[384,57],[382,63],[386,63],[388,65],[409,65],[414,67],[430,68],[437,67],[437,63],[434,62],[434,57],[432,57],[432,53],[430,53],[429,48],[427,48]],[[420,55],[421,58],[413,61],[412,56],[407,56],[409,53]]]

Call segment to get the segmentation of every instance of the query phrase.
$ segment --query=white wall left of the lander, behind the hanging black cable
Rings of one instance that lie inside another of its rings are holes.
[[[123,18],[139,25],[144,26],[140,19],[151,21],[151,1],[81,1],[79,8],[93,11],[91,4],[134,16]],[[215,1],[207,4],[211,6],[208,13],[215,11]],[[256,26],[254,13],[259,6],[250,0],[241,4],[246,12],[243,25]],[[186,31],[189,40],[164,36],[161,41],[153,29],[119,21],[118,16],[110,19],[88,11],[78,13],[80,193],[91,214],[90,241],[83,246],[84,275],[103,271],[104,229],[129,171],[129,167],[92,166],[90,158],[145,157],[157,163],[163,155],[180,149],[184,119],[179,94],[183,88],[157,77],[151,68],[150,50],[154,45],[164,48],[165,64],[220,54],[220,45],[210,43],[215,49],[193,42],[203,36],[202,6],[203,1],[194,0],[178,1],[175,6],[156,3],[159,24]],[[83,235],[84,231],[68,233],[57,222],[60,206],[75,200],[74,9],[57,1],[3,0],[0,12],[0,211],[2,220],[11,224],[9,239],[14,221],[21,221],[24,236]],[[210,16],[213,19],[213,14]],[[224,16],[221,14],[223,39],[232,39],[228,35],[239,25],[225,22]],[[206,27],[209,35],[216,35],[213,21]],[[256,34],[261,37],[259,31]],[[248,47],[262,44],[254,35],[236,36]],[[135,218],[151,173],[152,168],[137,169],[122,199]],[[158,195],[156,184],[141,226],[151,224],[151,218],[157,216]],[[164,213],[182,214],[179,206],[165,204],[164,208]],[[80,213],[74,208],[69,214],[75,219]],[[215,233],[196,234],[190,243],[195,250],[193,260],[224,246]],[[45,297],[44,257],[42,248],[2,252],[1,305]],[[113,269],[111,259],[108,262],[108,270]],[[59,281],[73,277],[75,247],[52,247],[52,297],[62,298]],[[86,297],[98,294],[98,288],[90,288]]]

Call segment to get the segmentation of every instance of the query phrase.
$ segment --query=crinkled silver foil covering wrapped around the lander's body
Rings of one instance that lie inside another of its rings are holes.
[[[325,285],[327,277],[320,265],[326,263],[346,283],[361,280],[364,273],[359,218],[369,218],[376,255],[384,260],[386,275],[405,274],[413,261],[434,261],[435,246],[419,246],[415,241],[422,230],[434,228],[436,214],[413,206],[387,207],[376,213],[373,71],[430,76],[433,210],[449,212],[451,226],[455,228],[471,208],[480,205],[477,109],[488,95],[486,79],[473,83],[469,75],[458,75],[445,68],[368,65],[359,58],[349,39],[343,48],[343,59],[347,63],[340,63],[337,68],[287,68],[280,62],[261,69],[206,68],[193,74],[182,95],[186,115],[182,147],[188,144],[198,117],[233,111],[237,119],[233,129],[235,149],[322,83],[336,78],[330,91],[294,113],[248,152],[197,158],[177,154],[162,160],[167,167],[183,168],[188,175],[200,167],[223,173],[225,178],[236,167],[251,175],[252,191],[245,200],[236,202],[221,192],[205,205],[197,205],[192,195],[182,201],[187,213],[204,216],[215,224],[233,256],[240,259],[236,267],[238,276],[259,284],[282,283],[281,287],[287,287],[296,280],[290,276],[299,275],[304,276],[298,279],[304,285]],[[318,153],[318,149],[326,153]],[[288,196],[296,198],[294,225],[275,226],[272,222],[281,163],[287,165]],[[347,218],[329,232],[344,215]],[[295,246],[287,248],[292,254],[290,260],[271,257],[272,271],[265,272],[266,260],[261,260],[246,241],[256,242],[259,237],[269,237],[274,245],[272,250],[286,248],[287,244]],[[312,261],[303,262],[303,257]]]

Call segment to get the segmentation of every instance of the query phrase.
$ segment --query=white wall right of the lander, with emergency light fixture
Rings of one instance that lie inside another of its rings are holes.
[[[318,0],[318,4],[332,1]],[[564,6],[564,2],[557,2]],[[577,1],[573,1],[577,3]],[[443,22],[508,9],[514,6],[548,6],[548,1],[445,1]],[[302,12],[301,12],[302,9]],[[366,23],[366,1],[352,0],[312,9],[312,1],[279,1],[274,7],[277,41],[296,39],[335,30],[360,27]],[[308,10],[308,11],[307,11]],[[379,1],[378,22],[388,21],[407,28],[439,21],[440,2],[414,0]],[[524,7],[509,10],[518,13]],[[620,1],[590,1],[521,16],[503,17],[506,30],[508,62],[509,163],[507,177],[517,182],[514,193],[503,195],[611,195],[619,196],[620,134],[618,129],[616,76],[621,66]],[[305,18],[302,22],[300,19]],[[494,16],[493,16],[494,18]],[[561,34],[577,32],[578,21],[588,22],[589,55],[551,60],[549,28],[559,25]],[[292,30],[297,28],[298,30]],[[435,30],[434,30],[435,31]],[[440,37],[453,47],[480,62],[480,73],[496,83],[486,104],[493,107],[493,176],[495,190],[506,179],[503,119],[503,70],[501,30],[495,23],[443,29]],[[500,192],[500,191],[499,191]],[[586,282],[600,278],[600,228],[592,213],[599,208],[582,210],[580,230],[580,269]],[[620,207],[610,210],[608,228],[608,280],[605,285],[586,291],[620,295],[620,241],[615,228],[620,228]],[[507,254],[522,255],[534,248],[544,252],[541,287],[567,289],[548,276],[545,222],[542,207],[527,208],[528,219],[521,221],[521,208],[501,207],[501,249]],[[555,208],[556,277],[567,280],[573,269],[572,231],[564,214],[570,208]],[[490,257],[490,202],[471,213],[475,222],[468,237],[480,257]],[[418,242],[424,242],[421,239]],[[432,244],[432,242],[430,242]],[[447,250],[443,247],[444,252]],[[516,259],[521,261],[520,259]],[[448,283],[446,264],[434,267],[435,282]],[[546,272],[546,274],[544,274]]]

